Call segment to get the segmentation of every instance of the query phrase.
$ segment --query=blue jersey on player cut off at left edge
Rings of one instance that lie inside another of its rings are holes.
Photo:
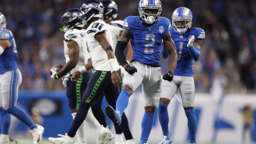
[[[18,68],[17,66],[17,49],[13,34],[8,29],[0,30],[0,40],[9,40],[11,47],[6,48],[0,55],[0,74]]]

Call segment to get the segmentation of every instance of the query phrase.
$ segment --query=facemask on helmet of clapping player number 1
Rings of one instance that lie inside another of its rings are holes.
[[[181,24],[178,24],[181,23]],[[172,19],[172,25],[180,34],[185,33],[192,26],[191,19]]]

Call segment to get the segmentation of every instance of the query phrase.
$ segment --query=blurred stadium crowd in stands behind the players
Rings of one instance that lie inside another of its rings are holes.
[[[139,15],[138,0],[114,0],[118,19]],[[171,19],[180,6],[193,13],[193,27],[205,30],[200,59],[194,63],[196,90],[209,92],[214,84],[227,90],[256,90],[255,0],[161,0],[161,16]],[[1,12],[15,37],[22,90],[59,90],[61,80],[50,78],[53,64],[64,64],[61,15],[80,8],[83,0],[3,0]],[[168,60],[161,59],[162,73]]]

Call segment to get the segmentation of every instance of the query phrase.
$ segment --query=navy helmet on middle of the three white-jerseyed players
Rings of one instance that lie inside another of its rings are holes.
[[[87,22],[91,18],[93,18],[93,17],[102,18],[103,17],[104,6],[98,0],[87,0],[83,3],[80,10],[83,12],[83,18],[82,18],[83,24],[87,25]]]

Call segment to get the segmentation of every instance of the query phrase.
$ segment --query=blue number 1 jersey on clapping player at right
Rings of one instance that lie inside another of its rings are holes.
[[[204,39],[205,38],[205,32],[201,28],[192,27],[189,31],[187,31],[184,34],[180,34],[177,31],[175,31],[174,27],[171,27],[170,30],[172,39],[175,43],[177,54],[178,54],[178,61],[177,66],[174,71],[174,75],[179,76],[194,76],[193,71],[193,63],[194,59],[191,57],[187,44],[189,42],[189,39],[191,36],[195,35],[195,41]],[[162,55],[166,55],[167,51],[161,51]]]

